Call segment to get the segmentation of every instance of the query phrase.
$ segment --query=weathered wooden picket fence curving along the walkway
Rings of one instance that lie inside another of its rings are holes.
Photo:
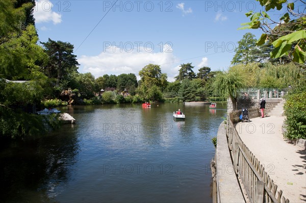
[[[249,109],[249,118],[255,118],[257,113],[259,109]],[[241,140],[234,125],[240,114],[239,110],[227,115],[226,136],[228,148],[232,151],[234,170],[243,183],[249,201],[289,203],[282,196],[283,191],[277,190],[277,185],[265,172],[265,168]]]

